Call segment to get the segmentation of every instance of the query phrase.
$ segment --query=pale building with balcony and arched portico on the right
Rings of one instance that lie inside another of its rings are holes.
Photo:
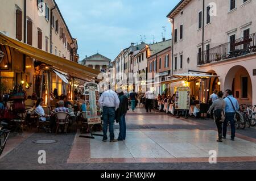
[[[255,7],[249,0],[180,1],[167,15],[174,37],[173,74],[212,73],[218,77],[207,81],[206,99],[214,89],[230,89],[240,104],[255,104]]]

